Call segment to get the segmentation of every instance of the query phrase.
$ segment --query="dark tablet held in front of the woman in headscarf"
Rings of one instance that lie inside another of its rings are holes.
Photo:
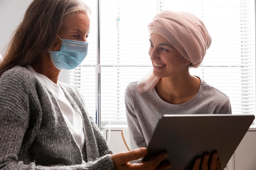
[[[253,120],[247,114],[162,115],[141,162],[167,151],[168,170],[191,170],[198,156],[217,151],[224,169]]]

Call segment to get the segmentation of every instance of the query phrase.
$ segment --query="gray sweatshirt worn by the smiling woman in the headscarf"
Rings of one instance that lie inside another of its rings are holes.
[[[137,92],[137,82],[128,84],[125,93],[126,117],[131,148],[146,147],[158,119],[164,114],[231,114],[229,97],[203,79],[195,97],[182,104],[169,104],[156,93]],[[182,125],[181,125],[182,126]]]

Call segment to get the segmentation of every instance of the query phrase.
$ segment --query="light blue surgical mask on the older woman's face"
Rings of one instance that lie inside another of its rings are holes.
[[[60,51],[50,51],[52,63],[58,69],[71,70],[79,66],[87,55],[88,42],[61,39]]]

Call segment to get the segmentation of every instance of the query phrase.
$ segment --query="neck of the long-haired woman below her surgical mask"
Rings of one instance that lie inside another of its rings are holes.
[[[57,84],[58,76],[61,73],[53,64],[50,55],[43,55],[39,60],[31,65],[37,73],[48,77],[52,82]]]

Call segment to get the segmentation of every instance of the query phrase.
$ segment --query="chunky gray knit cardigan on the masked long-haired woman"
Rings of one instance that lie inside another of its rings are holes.
[[[0,170],[115,169],[83,96],[74,86],[61,87],[83,117],[82,152],[51,91],[27,67],[15,66],[0,77]]]

